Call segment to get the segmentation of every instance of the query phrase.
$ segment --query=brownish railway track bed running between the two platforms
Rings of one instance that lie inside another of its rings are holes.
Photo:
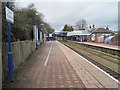
[[[104,53],[99,50],[87,48],[84,45],[80,45],[75,42],[62,41],[61,43],[76,51],[83,57],[87,58],[96,66],[100,67],[101,69],[109,73],[111,76],[119,80],[118,76],[120,75],[120,58],[118,56]]]

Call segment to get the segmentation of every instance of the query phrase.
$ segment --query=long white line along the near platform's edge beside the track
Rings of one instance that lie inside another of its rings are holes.
[[[61,43],[62,44],[62,43]],[[65,46],[64,44],[62,44],[63,46]],[[94,66],[95,68],[97,68],[98,70],[100,70],[101,72],[103,72],[104,74],[106,74],[108,77],[110,77],[111,79],[113,79],[114,81],[116,81],[117,83],[120,83],[116,78],[114,78],[113,76],[111,76],[110,74],[108,74],[107,72],[105,72],[104,70],[102,70],[101,68],[99,68],[98,66],[96,66],[95,64],[91,63],[89,60],[87,60],[86,58],[84,58],[83,56],[79,55],[77,52],[73,51],[72,49],[70,49],[69,47],[65,46],[66,48],[68,48],[70,51],[72,51],[73,53],[77,54],[79,57],[81,57],[83,60],[87,61],[88,63],[90,63],[92,66]]]

